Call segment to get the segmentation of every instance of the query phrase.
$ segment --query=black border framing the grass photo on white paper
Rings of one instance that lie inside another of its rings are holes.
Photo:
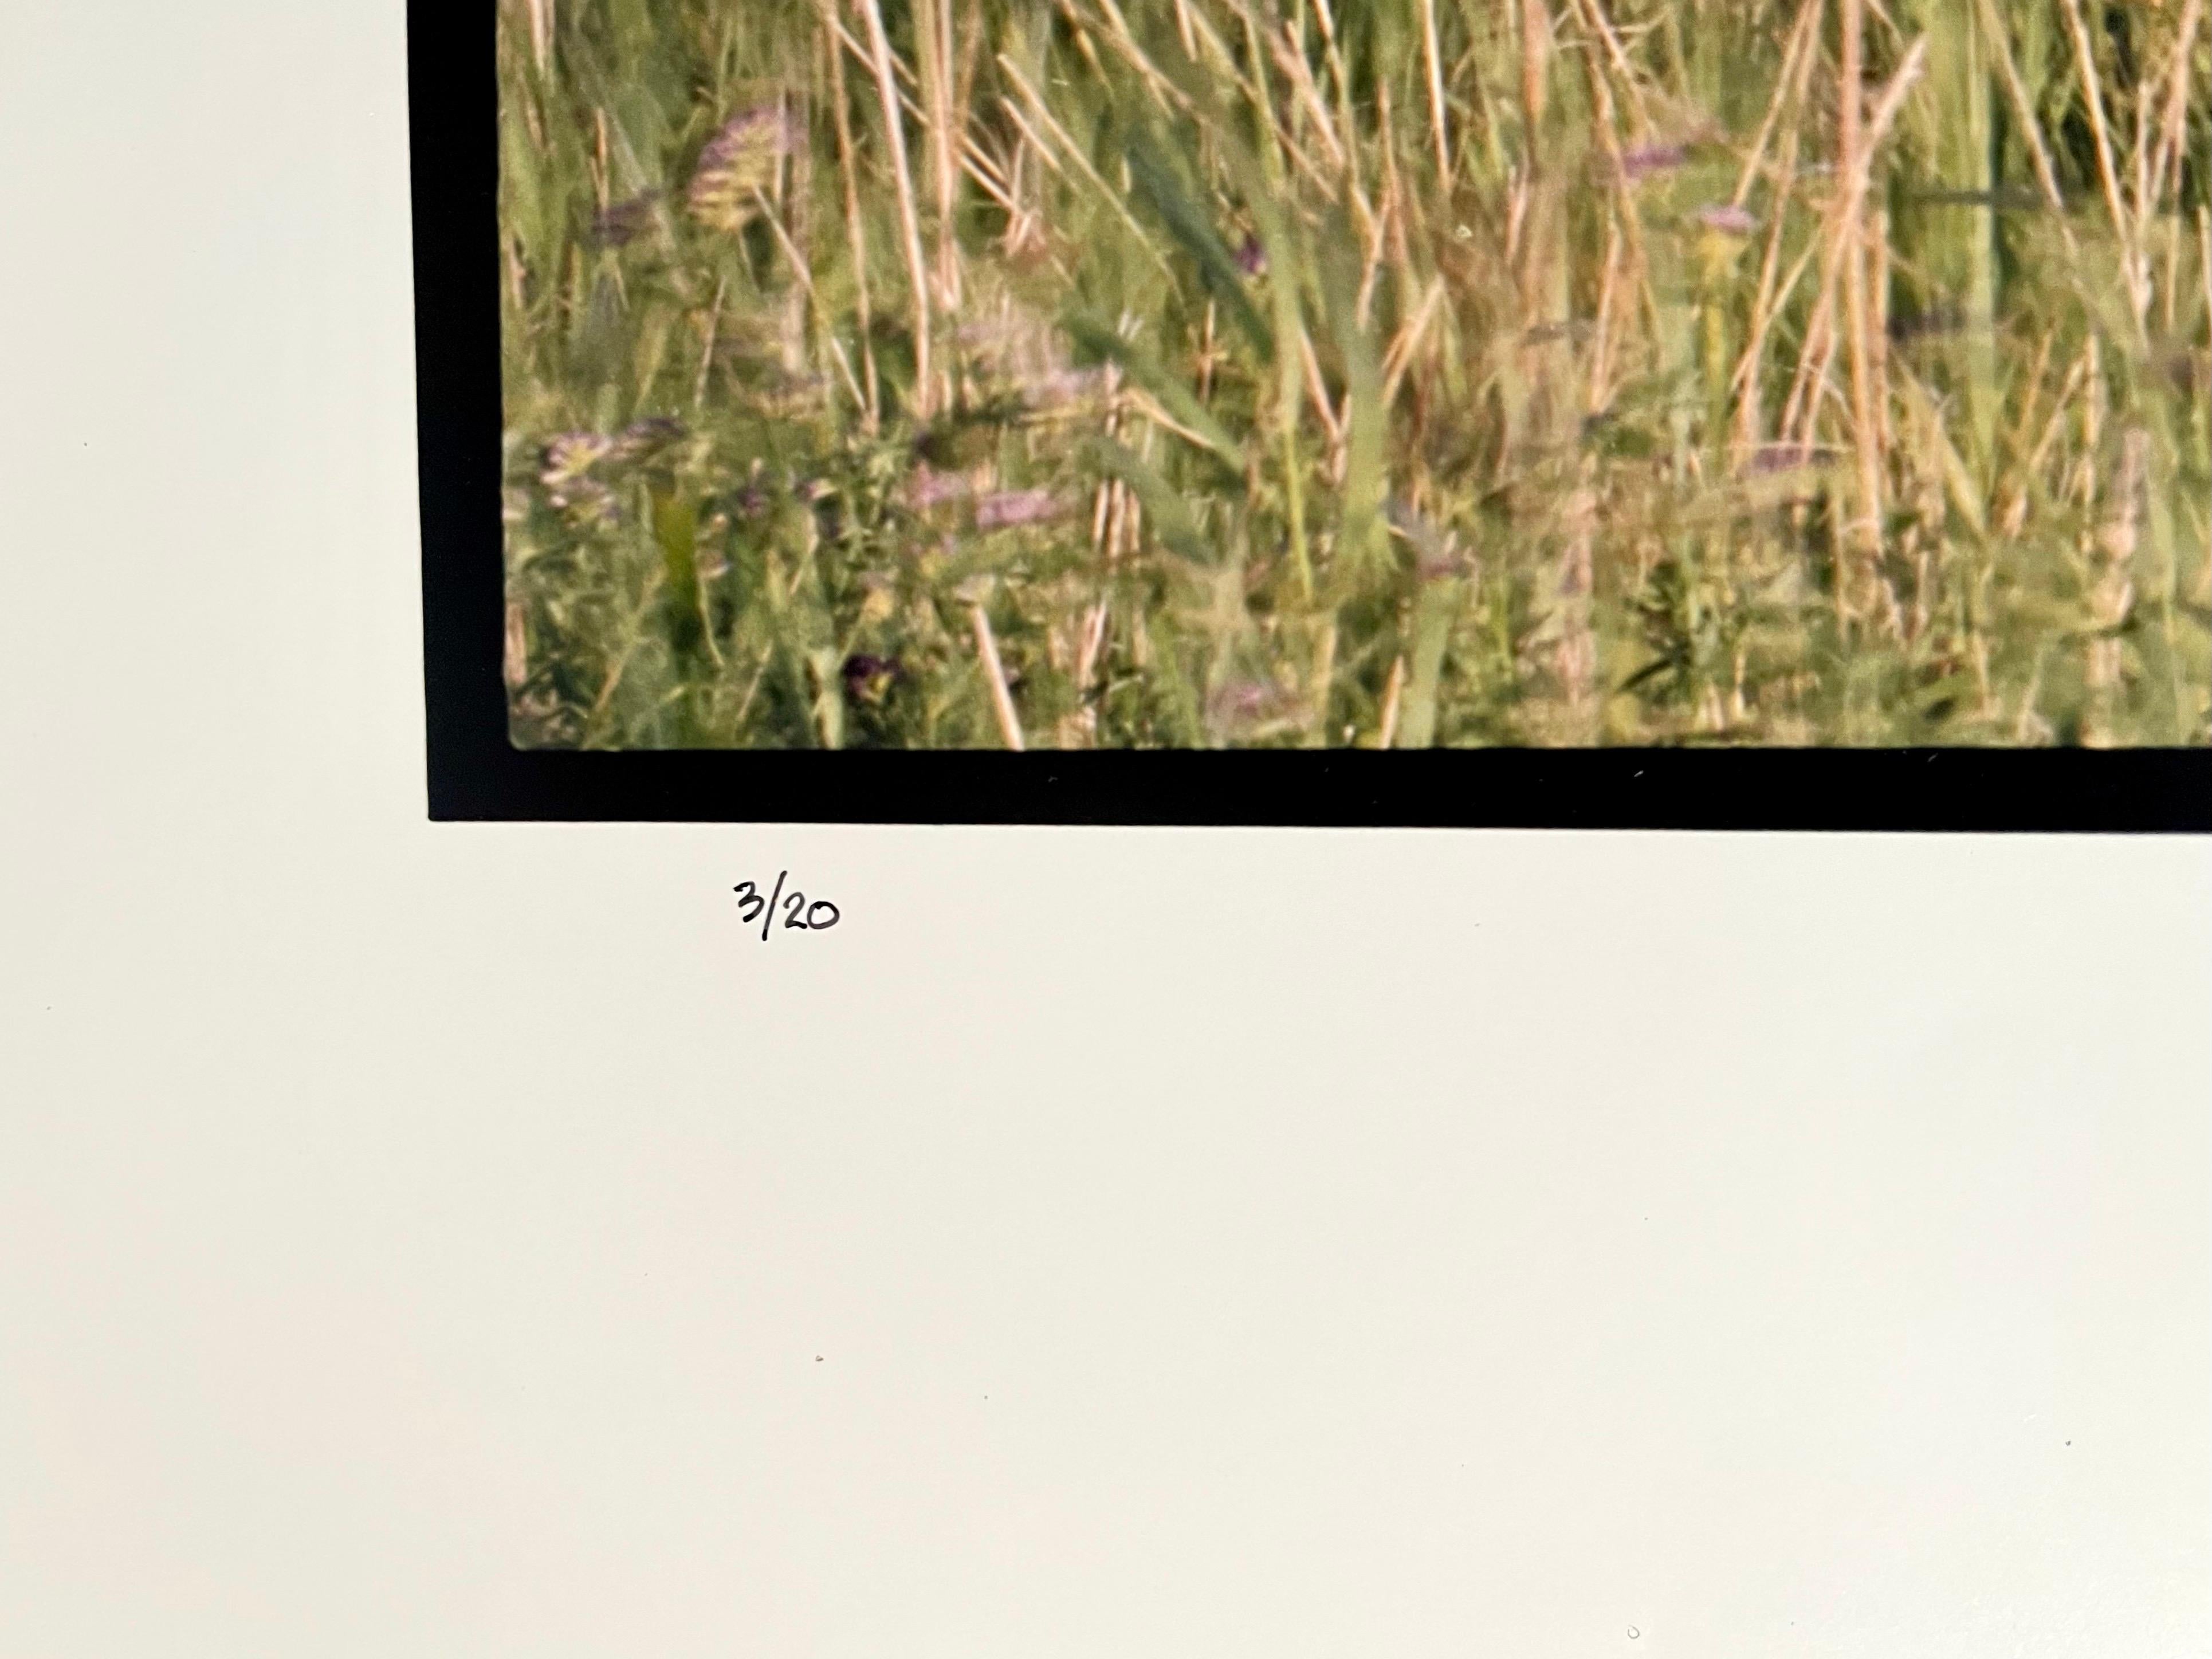
[[[409,0],[407,91],[436,821],[2212,832],[2212,750],[518,750],[493,7]]]

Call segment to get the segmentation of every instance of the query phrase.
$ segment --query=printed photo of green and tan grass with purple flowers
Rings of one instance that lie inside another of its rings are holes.
[[[500,0],[498,75],[522,745],[2212,739],[2205,0]]]

